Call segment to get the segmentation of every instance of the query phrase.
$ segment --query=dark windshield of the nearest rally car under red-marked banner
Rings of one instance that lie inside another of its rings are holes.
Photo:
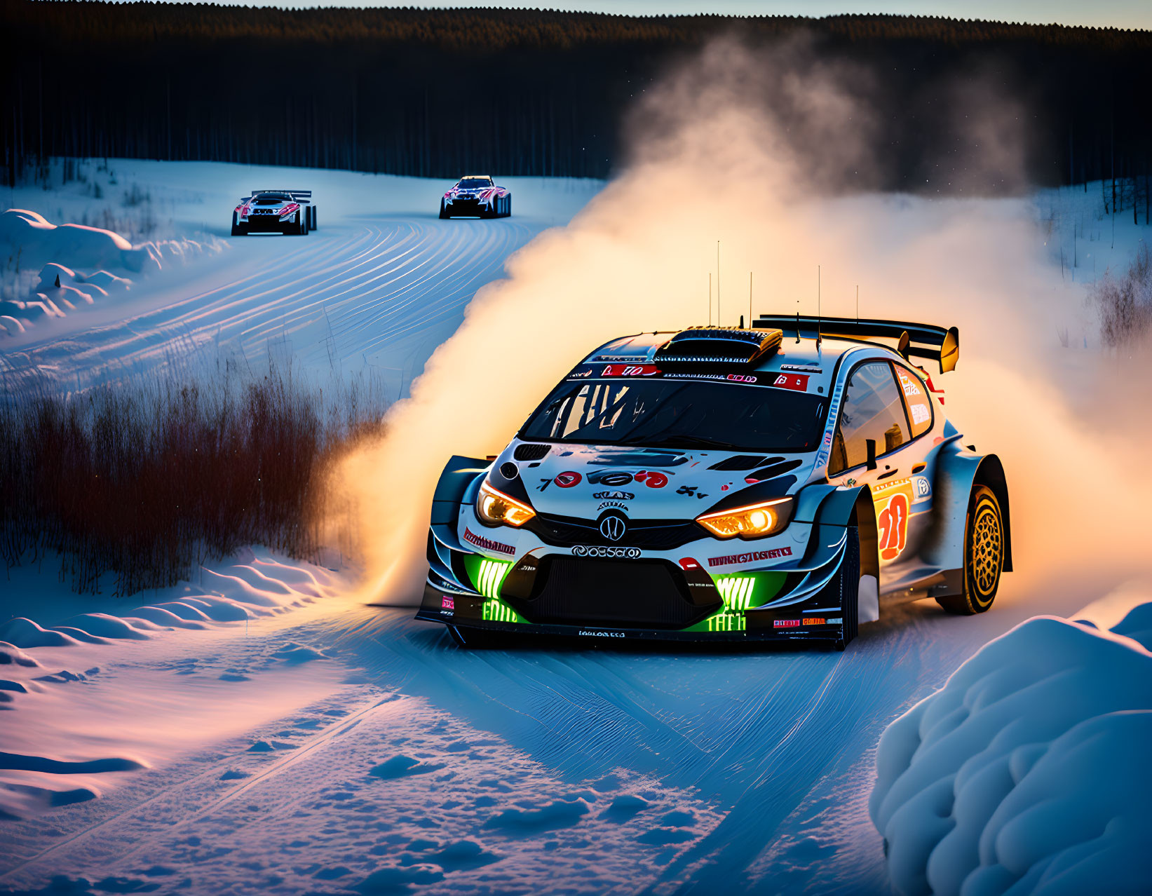
[[[581,445],[812,451],[823,397],[764,386],[672,379],[561,382],[521,439]]]

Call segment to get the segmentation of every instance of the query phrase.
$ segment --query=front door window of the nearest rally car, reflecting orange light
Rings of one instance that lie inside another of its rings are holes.
[[[869,439],[876,440],[877,456],[909,441],[904,400],[886,360],[867,362],[851,372],[832,441],[828,474],[866,463]]]

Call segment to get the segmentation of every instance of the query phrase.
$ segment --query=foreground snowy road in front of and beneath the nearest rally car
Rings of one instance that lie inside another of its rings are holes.
[[[294,582],[291,567],[262,569]],[[8,717],[30,728],[8,729],[3,749],[76,760],[114,744],[146,768],[15,773],[105,792],[3,822],[0,887],[65,871],[237,894],[884,893],[865,808],[880,731],[991,637],[1037,610],[1075,613],[1109,584],[1025,594],[1009,578],[985,616],[911,605],[844,653],[469,653],[409,610],[349,602],[339,583],[250,628],[29,650],[36,676],[99,671],[16,694]],[[313,661],[281,659],[300,650]],[[69,721],[77,689],[131,730]],[[143,717],[150,732],[135,730]],[[190,736],[197,726],[212,736]],[[45,731],[68,745],[54,752]]]

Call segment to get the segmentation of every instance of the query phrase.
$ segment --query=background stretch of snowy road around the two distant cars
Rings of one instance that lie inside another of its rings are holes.
[[[8,371],[38,370],[66,387],[83,387],[167,364],[214,365],[222,355],[256,365],[271,354],[320,375],[371,371],[394,398],[456,329],[476,290],[502,275],[508,256],[543,229],[566,223],[601,187],[506,179],[516,200],[511,218],[441,221],[437,181],[123,165],[131,166],[130,174],[120,173],[124,183],[131,177],[150,195],[180,197],[169,227],[227,240],[227,248],[142,280],[116,303],[7,341],[0,364]],[[245,184],[302,179],[316,196],[318,230],[303,238],[228,236],[223,225]],[[17,191],[8,202],[35,210],[43,203],[37,192]],[[61,212],[67,217],[67,205]]]

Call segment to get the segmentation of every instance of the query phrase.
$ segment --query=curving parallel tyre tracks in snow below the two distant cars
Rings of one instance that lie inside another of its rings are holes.
[[[380,215],[341,222],[306,241],[237,240],[220,281],[206,289],[182,295],[180,284],[168,284],[146,310],[48,335],[6,364],[22,360],[83,387],[187,364],[213,346],[258,363],[282,343],[308,369],[372,365],[403,371],[410,381],[458,326],[476,290],[498,279],[507,256],[540,229],[543,222],[532,220]]]

